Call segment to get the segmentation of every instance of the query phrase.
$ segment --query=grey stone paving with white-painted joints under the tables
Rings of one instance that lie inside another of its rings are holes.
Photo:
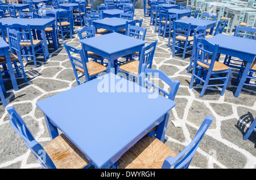
[[[214,121],[189,168],[256,168],[256,133],[253,132],[249,139],[243,140],[243,135],[256,117],[255,88],[244,87],[240,96],[234,97],[237,71],[232,70],[224,96],[220,96],[220,89],[209,88],[204,97],[199,97],[201,85],[188,88],[191,80],[191,72],[187,73],[190,56],[183,60],[181,55],[172,57],[170,48],[167,48],[168,38],[154,32],[154,26],[149,25],[150,18],[144,17],[142,10],[135,10],[135,18],[143,19],[142,27],[147,28],[147,42],[158,39],[152,68],[162,70],[170,78],[179,79],[181,82],[175,98],[177,105],[172,109],[168,122],[165,143],[176,153],[181,152],[191,142],[204,118],[211,115]],[[76,27],[79,28],[81,27]],[[65,42],[81,48],[78,40],[75,33],[72,39],[65,39]],[[61,42],[63,41],[60,39],[58,50],[49,45],[51,58],[47,62],[38,58],[37,68],[34,63],[24,61],[28,83],[19,78],[18,91],[13,90],[10,81],[5,83],[7,106],[14,106],[18,110],[35,139],[42,145],[49,142],[49,135],[43,114],[35,103],[77,85]],[[10,126],[9,114],[1,102],[0,155],[0,168],[41,168],[23,140]]]

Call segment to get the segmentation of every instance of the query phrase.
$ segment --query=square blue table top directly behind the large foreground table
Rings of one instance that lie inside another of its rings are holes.
[[[137,38],[129,37],[116,32],[109,33],[104,36],[86,38],[79,41],[82,44],[91,46],[110,55],[147,43],[147,41],[138,40]]]

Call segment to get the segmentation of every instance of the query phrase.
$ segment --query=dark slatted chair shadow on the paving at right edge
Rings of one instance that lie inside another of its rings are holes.
[[[253,117],[253,114],[251,114],[250,112],[247,112],[246,114],[242,115],[240,119],[241,121],[237,121],[237,125],[235,125],[235,127],[237,127],[237,129],[241,132],[242,136],[245,136],[247,130],[249,130],[249,127],[250,127],[250,126],[247,127],[246,125],[247,124],[251,125],[254,121],[254,117]],[[251,135],[247,140],[250,140],[252,143],[254,143],[254,148],[256,148],[256,132],[255,131],[251,132]]]

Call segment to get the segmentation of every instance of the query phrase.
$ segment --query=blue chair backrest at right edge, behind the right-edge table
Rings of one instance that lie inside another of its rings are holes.
[[[236,26],[234,36],[256,40],[256,28]]]

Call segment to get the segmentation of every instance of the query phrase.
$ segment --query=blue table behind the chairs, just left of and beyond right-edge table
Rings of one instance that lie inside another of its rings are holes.
[[[180,22],[180,23],[191,23],[191,29],[195,29],[197,28],[199,25],[207,26],[207,29],[210,28],[210,35],[212,35],[213,33],[213,29],[214,29],[214,25],[216,23],[216,21],[214,20],[205,20],[205,19],[197,19],[197,18],[184,18],[184,19],[179,19],[176,20],[175,22]]]

